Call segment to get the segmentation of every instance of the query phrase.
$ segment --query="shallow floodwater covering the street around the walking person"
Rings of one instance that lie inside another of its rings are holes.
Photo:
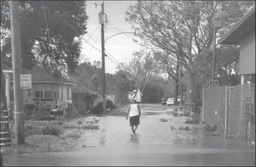
[[[137,134],[125,117],[99,117],[100,129],[84,131],[76,150],[4,155],[4,166],[255,166],[251,143],[211,136],[171,112],[142,108]]]

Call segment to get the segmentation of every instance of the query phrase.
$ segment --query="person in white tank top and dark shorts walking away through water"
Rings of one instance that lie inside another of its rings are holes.
[[[128,108],[126,120],[128,120],[128,116],[129,116],[131,132],[133,132],[134,134],[138,126],[140,125],[140,115],[141,115],[140,106],[137,105],[137,100],[133,100],[133,103]],[[135,129],[134,129],[134,126],[135,126]]]

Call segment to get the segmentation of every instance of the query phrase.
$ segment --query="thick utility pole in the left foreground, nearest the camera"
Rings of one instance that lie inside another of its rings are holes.
[[[18,145],[25,143],[24,110],[20,72],[22,69],[21,39],[19,32],[19,1],[10,1],[10,30],[13,61],[14,120]]]

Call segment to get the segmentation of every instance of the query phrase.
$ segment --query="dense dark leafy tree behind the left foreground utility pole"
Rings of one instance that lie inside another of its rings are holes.
[[[10,6],[6,1],[1,1],[1,6],[1,55],[7,57],[11,52]],[[80,36],[86,33],[85,1],[19,1],[19,13],[22,67],[40,65],[50,72],[73,71],[78,65]]]

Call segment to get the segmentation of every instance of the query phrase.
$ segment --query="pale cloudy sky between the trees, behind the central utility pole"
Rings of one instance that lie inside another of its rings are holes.
[[[98,14],[101,10],[101,6],[95,7],[95,2],[97,4],[102,3],[102,1],[87,1],[87,13],[88,13],[88,35],[85,35],[84,38],[87,40],[91,35],[91,38],[88,40],[97,49],[101,50],[101,36],[99,25]],[[125,22],[125,11],[128,9],[130,4],[135,4],[136,1],[104,1],[105,4],[105,14],[108,16],[108,21],[110,22],[106,26],[105,39],[123,32],[128,32],[127,35],[121,34],[116,35],[113,38],[109,38],[105,43],[105,50],[107,50],[111,55],[113,55],[116,61],[118,62],[128,62],[132,58],[132,52],[135,50],[140,50],[140,46],[134,44],[132,34],[134,30],[131,29],[131,26]],[[98,27],[98,28],[97,28]],[[119,30],[116,30],[114,28]],[[93,33],[94,32],[94,33]],[[93,35],[92,35],[93,34]],[[96,41],[96,42],[95,42]],[[89,61],[101,61],[101,52],[91,47],[90,44],[87,44],[83,41],[82,46],[82,58],[81,61],[88,59]],[[108,52],[106,52],[107,55]],[[116,71],[116,64],[112,62],[109,58],[105,58],[105,69],[106,72],[114,73]]]

